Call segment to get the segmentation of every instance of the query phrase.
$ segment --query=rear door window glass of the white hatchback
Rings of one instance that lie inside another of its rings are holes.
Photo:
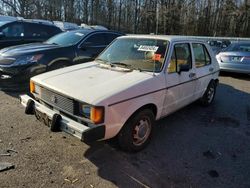
[[[203,44],[195,43],[192,44],[192,47],[195,57],[195,67],[199,68],[211,64],[211,58]]]

